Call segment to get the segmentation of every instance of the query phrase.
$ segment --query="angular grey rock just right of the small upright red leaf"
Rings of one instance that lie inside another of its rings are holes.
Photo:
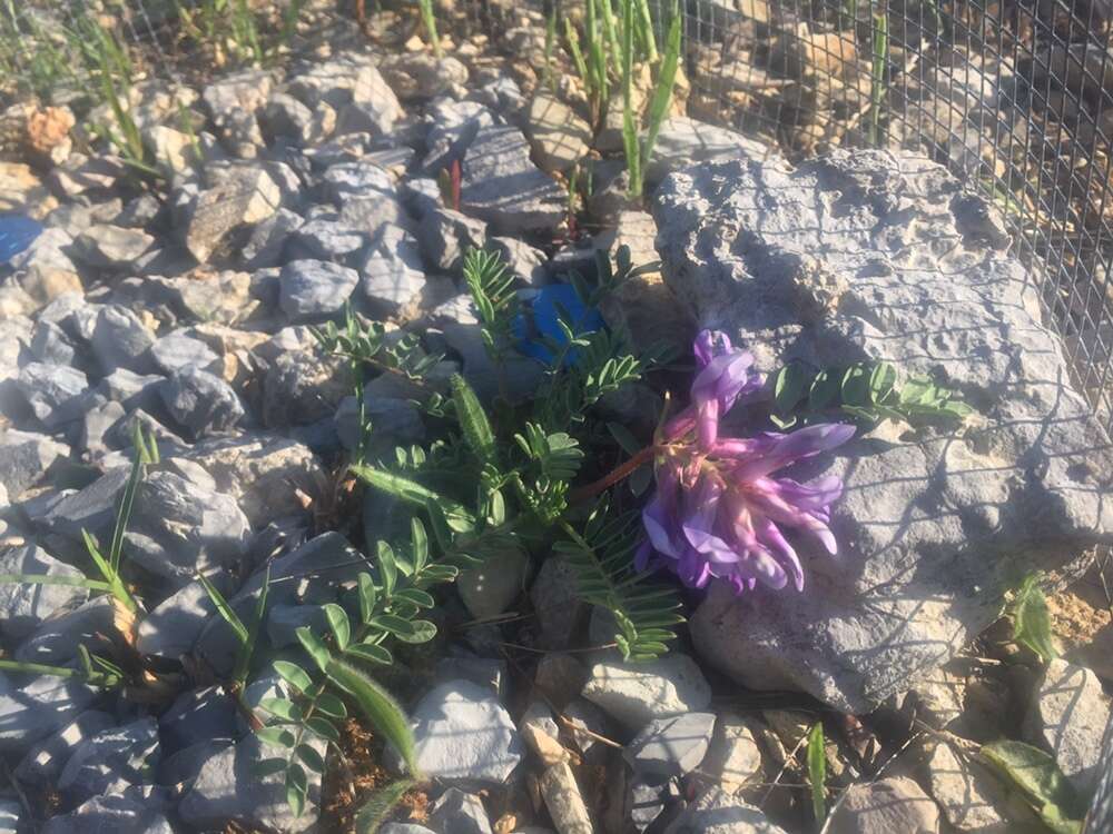
[[[500,232],[552,231],[564,221],[568,195],[530,159],[515,127],[481,128],[463,163],[460,207]]]

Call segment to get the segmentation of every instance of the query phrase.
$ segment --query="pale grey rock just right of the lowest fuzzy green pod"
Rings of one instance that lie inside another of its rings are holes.
[[[510,713],[470,681],[441,684],[411,713],[417,766],[449,782],[503,784],[525,752]]]

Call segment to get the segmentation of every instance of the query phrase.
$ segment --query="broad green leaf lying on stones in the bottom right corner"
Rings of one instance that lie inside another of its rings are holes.
[[[1082,831],[1084,804],[1050,754],[1023,742],[1004,739],[986,744],[978,756],[1020,788],[1053,832]]]

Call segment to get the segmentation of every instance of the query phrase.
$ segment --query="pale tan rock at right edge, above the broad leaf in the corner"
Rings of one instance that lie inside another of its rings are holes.
[[[1044,669],[1024,719],[1024,734],[1051,752],[1078,796],[1089,797],[1102,775],[1102,738],[1110,699],[1093,672],[1062,659]]]

